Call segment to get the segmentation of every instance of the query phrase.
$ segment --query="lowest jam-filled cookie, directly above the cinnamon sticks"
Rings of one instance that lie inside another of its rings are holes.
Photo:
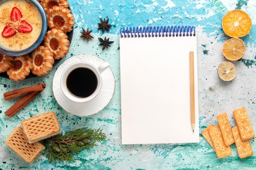
[[[7,70],[7,75],[11,80],[18,82],[25,79],[32,68],[32,58],[28,54],[17,56],[12,66]]]

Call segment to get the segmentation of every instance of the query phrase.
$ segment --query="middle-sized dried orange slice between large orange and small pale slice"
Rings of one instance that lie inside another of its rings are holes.
[[[227,60],[236,61],[245,54],[245,43],[240,38],[231,38],[222,47],[222,53]]]

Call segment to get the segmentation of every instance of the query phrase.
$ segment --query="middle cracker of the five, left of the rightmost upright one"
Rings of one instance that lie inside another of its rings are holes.
[[[220,126],[220,131],[222,134],[222,137],[224,139],[225,145],[229,146],[231,144],[234,144],[234,138],[231,132],[231,126],[229,124],[229,119],[227,117],[227,113],[222,113],[217,116],[217,120]]]

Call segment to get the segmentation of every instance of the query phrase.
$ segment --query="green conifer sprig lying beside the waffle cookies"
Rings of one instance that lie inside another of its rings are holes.
[[[79,128],[66,132],[64,135],[60,133],[43,140],[45,145],[44,154],[50,163],[74,161],[72,158],[74,154],[76,155],[84,148],[90,150],[90,148],[97,146],[97,142],[105,139],[106,135],[102,132],[102,129]]]

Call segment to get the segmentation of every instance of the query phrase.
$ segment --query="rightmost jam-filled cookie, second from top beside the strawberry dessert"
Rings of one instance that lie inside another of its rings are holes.
[[[61,29],[64,33],[72,31],[74,26],[74,15],[63,6],[54,6],[48,10],[47,23],[50,29]]]

